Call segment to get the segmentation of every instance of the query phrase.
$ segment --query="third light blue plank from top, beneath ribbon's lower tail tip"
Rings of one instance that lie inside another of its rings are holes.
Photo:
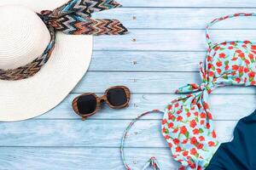
[[[95,50],[207,51],[204,30],[130,30],[118,37],[94,37]],[[256,41],[253,30],[212,30],[213,42]],[[119,42],[119,43],[117,43]]]

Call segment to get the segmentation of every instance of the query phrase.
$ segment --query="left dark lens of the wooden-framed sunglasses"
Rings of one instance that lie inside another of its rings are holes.
[[[78,99],[78,109],[81,115],[89,115],[96,111],[96,97],[92,94],[80,96]]]

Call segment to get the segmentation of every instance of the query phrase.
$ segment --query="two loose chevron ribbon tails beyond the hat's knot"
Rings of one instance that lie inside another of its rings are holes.
[[[113,0],[75,0],[53,11],[42,11],[56,31],[73,35],[123,35],[127,29],[119,20],[91,19],[91,13],[117,8],[121,5]]]

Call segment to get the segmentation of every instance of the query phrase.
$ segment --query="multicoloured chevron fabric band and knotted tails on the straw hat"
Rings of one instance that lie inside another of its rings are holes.
[[[50,42],[44,53],[24,66],[11,70],[0,69],[0,79],[16,81],[32,77],[48,61],[55,48],[55,31],[70,35],[123,35],[127,29],[119,20],[91,19],[93,12],[121,5],[113,0],[71,0],[54,10],[44,10],[38,16],[49,29]]]

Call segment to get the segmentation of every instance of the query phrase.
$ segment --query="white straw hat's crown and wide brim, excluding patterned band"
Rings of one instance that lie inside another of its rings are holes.
[[[36,13],[67,0],[0,1],[0,70],[22,67],[44,51],[52,36]],[[36,11],[36,12],[34,12]],[[55,35],[55,48],[42,69],[21,80],[0,80],[0,121],[20,121],[54,108],[75,87],[90,65],[92,36]]]

